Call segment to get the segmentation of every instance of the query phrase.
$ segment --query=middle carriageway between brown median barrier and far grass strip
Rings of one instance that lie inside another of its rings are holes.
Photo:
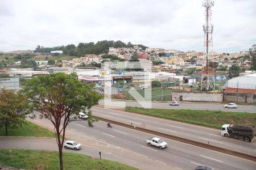
[[[197,142],[209,142],[210,145],[256,156],[256,140],[254,140],[253,143],[250,143],[239,141],[238,139],[221,137],[220,130],[217,129],[100,107],[94,107],[92,108],[92,111],[93,115],[98,117],[108,118],[129,125],[133,122],[134,126],[139,127],[141,127],[142,124],[145,124],[145,128],[147,129],[192,139]]]

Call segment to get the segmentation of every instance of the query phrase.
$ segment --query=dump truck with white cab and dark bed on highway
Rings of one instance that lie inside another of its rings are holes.
[[[227,138],[237,138],[240,141],[253,142],[256,129],[248,125],[222,125],[221,135]]]

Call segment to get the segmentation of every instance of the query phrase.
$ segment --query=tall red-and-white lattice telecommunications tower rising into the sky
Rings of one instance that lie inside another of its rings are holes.
[[[204,29],[204,46],[206,54],[206,66],[205,71],[201,75],[201,91],[215,90],[214,74],[209,74],[209,46],[212,46],[212,33],[213,25],[211,23],[212,10],[210,7],[214,6],[212,0],[204,0],[203,7],[205,7],[205,24],[203,25]]]

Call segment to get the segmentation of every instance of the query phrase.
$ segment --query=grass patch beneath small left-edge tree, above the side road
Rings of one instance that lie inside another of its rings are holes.
[[[5,136],[5,127],[0,128],[0,136]],[[24,124],[18,128],[8,128],[8,136],[12,137],[53,137],[55,134],[36,124],[24,120]]]

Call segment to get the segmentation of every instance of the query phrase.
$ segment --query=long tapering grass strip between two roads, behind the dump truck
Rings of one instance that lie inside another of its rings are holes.
[[[246,112],[196,111],[189,109],[144,109],[137,107],[126,107],[125,111],[216,129],[220,129],[223,124],[246,124],[256,126],[256,114]]]

